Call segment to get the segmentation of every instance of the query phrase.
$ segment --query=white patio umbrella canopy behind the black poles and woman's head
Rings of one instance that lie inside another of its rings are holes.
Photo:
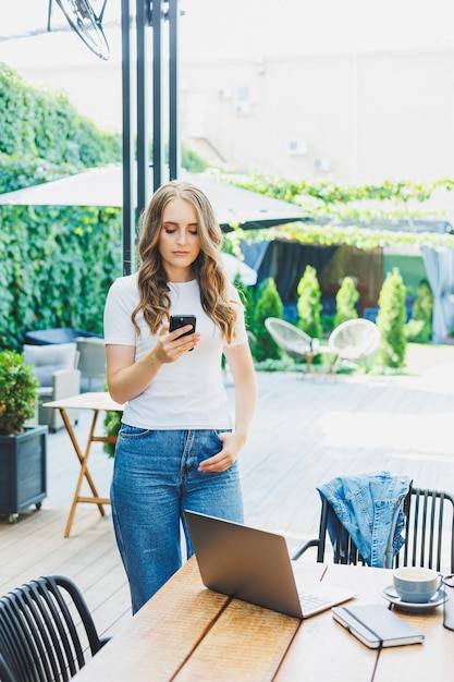
[[[209,197],[220,226],[244,229],[269,228],[303,218],[303,209],[203,174],[182,172]],[[123,205],[122,166],[96,168],[70,178],[0,194],[0,204],[27,206],[119,206]]]

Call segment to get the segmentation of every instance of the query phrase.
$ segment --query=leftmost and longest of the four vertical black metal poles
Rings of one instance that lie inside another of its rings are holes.
[[[130,0],[122,0],[122,162],[123,162],[123,275],[135,269],[135,216],[133,195],[133,131],[131,127]]]

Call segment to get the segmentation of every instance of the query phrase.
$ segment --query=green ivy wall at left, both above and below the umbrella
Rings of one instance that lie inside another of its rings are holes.
[[[120,135],[0,62],[0,193],[120,159]],[[0,206],[0,349],[21,350],[33,329],[102,332],[121,222],[119,208]]]

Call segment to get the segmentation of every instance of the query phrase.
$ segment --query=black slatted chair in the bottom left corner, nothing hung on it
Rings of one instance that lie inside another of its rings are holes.
[[[68,577],[39,577],[0,598],[1,682],[70,680],[107,642]]]

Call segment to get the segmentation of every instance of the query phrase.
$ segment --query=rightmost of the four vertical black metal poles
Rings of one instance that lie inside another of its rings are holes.
[[[180,2],[169,0],[169,179],[180,175],[179,25]]]

